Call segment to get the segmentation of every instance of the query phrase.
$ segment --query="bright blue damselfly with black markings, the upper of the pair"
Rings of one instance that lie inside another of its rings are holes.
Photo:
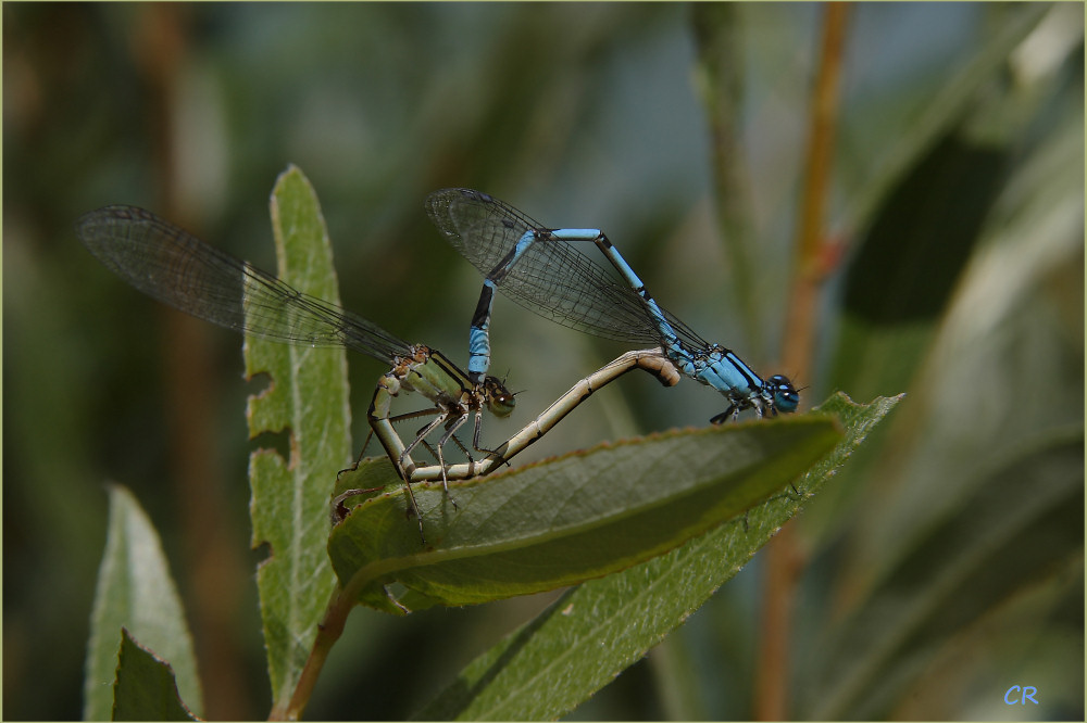
[[[705,341],[661,307],[599,229],[548,228],[486,193],[443,189],[426,200],[442,234],[485,276],[468,338],[468,375],[490,366],[495,290],[564,326],[630,344],[659,344],[692,379],[715,389],[728,408],[710,421],[735,419],[744,409],[760,417],[795,411],[800,395],[786,377],[763,380],[734,352]],[[605,269],[573,244],[590,241],[619,271]]]

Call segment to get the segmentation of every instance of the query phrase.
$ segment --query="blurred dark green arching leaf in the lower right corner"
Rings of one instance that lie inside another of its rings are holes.
[[[955,632],[1069,562],[1082,565],[1083,429],[1046,437],[997,460],[824,631],[804,690],[808,718],[886,718]],[[1080,699],[1082,683],[1060,697]]]

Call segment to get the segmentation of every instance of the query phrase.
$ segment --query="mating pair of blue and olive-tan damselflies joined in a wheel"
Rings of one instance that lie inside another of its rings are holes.
[[[403,480],[420,534],[423,519],[411,483],[487,474],[508,464],[601,386],[633,369],[644,369],[662,384],[680,373],[707,384],[729,403],[714,423],[744,409],[760,417],[794,411],[799,395],[783,376],[763,380],[733,352],[711,344],[661,307],[619,251],[598,229],[551,229],[489,195],[445,189],[426,201],[442,234],[485,276],[470,330],[468,369],[423,344],[410,344],[336,304],[303,294],[276,277],[220,251],[151,212],[112,205],[84,215],[76,224],[80,241],[108,268],[153,299],[195,317],[240,333],[285,344],[342,346],[379,359],[390,370],[378,381],[367,410],[377,436]],[[619,272],[619,279],[574,244],[591,242]],[[559,324],[632,345],[627,352],[578,381],[520,432],[493,449],[480,446],[483,410],[510,416],[514,395],[490,366],[490,317],[495,290]],[[392,398],[416,392],[433,407],[391,414]],[[393,424],[433,416],[404,444]],[[474,416],[472,449],[457,432]],[[439,433],[434,447],[427,437]],[[467,459],[450,465],[450,441]],[[412,458],[418,445],[432,448],[437,465]],[[484,455],[473,458],[472,451]],[[365,448],[363,449],[363,453]],[[347,494],[341,495],[341,498]],[[425,537],[424,537],[425,540]]]

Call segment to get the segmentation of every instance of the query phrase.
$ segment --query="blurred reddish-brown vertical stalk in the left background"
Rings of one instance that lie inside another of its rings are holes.
[[[153,195],[161,212],[178,214],[178,135],[175,127],[179,85],[188,62],[190,13],[184,5],[149,3],[139,9],[133,53],[146,90],[146,117],[152,143]],[[161,315],[163,373],[168,395],[170,479],[190,565],[192,637],[209,719],[247,718],[247,683],[234,634],[242,596],[245,561],[226,510],[222,470],[214,464],[215,440],[209,427],[218,396],[212,373],[208,329],[184,314]],[[192,705],[192,701],[186,701]]]

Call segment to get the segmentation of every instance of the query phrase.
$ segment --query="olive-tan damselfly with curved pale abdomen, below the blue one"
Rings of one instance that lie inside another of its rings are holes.
[[[421,535],[423,520],[411,482],[440,479],[448,492],[449,480],[492,471],[542,436],[594,391],[632,368],[646,369],[666,385],[675,384],[679,378],[660,350],[624,354],[575,384],[496,449],[485,449],[479,445],[483,410],[508,417],[515,406],[513,393],[499,379],[468,375],[437,350],[409,344],[357,314],[301,293],[149,211],[107,206],[80,217],[76,231],[104,266],[138,291],[168,306],[239,333],[296,346],[342,346],[389,364],[391,369],[378,380],[366,416],[372,433],[404,482]],[[400,392],[417,392],[434,406],[392,416],[392,398]],[[472,446],[487,455],[479,461],[472,459],[455,436],[473,414]],[[393,423],[430,415],[435,416],[434,421],[405,445]],[[420,443],[429,447],[426,437],[439,427],[443,432],[436,445],[438,465],[416,465],[411,458],[412,451]],[[446,464],[442,447],[450,440],[468,458],[466,464]],[[337,498],[337,506],[346,496],[349,495]]]

